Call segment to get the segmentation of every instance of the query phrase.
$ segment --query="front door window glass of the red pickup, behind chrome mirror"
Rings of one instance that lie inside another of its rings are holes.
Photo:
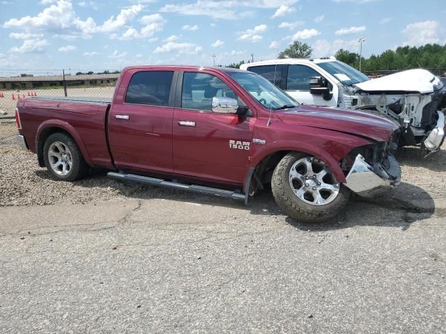
[[[236,93],[229,86],[211,74],[184,73],[181,93],[182,108],[212,111],[212,99],[215,96],[237,99]]]

